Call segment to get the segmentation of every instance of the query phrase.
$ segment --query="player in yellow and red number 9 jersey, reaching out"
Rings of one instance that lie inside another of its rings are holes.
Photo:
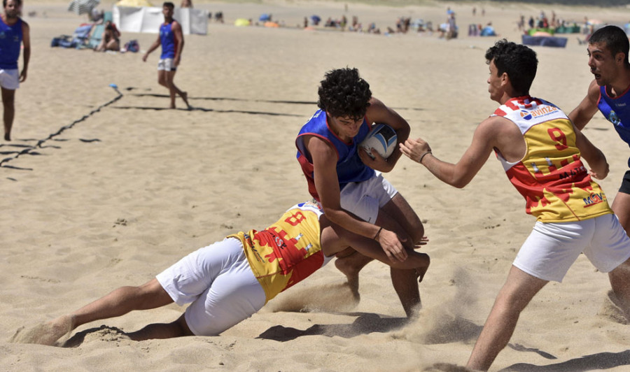
[[[442,162],[422,138],[400,145],[403,154],[455,187],[467,185],[496,152],[526,199],[526,213],[536,217],[468,359],[468,368],[481,371],[505,348],[533,296],[550,280],[560,282],[582,252],[608,273],[611,296],[630,321],[630,238],[593,180],[608,175],[605,156],[558,107],[529,95],[538,65],[533,50],[504,39],[485,57],[490,98],[501,106],[479,124],[459,162]]]

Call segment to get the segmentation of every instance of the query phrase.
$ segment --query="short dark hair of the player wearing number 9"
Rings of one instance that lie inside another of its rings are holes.
[[[494,61],[498,76],[504,72],[507,73],[515,93],[529,94],[529,88],[538,68],[536,52],[525,45],[508,42],[504,38],[486,51],[486,63],[489,64],[492,61]]]

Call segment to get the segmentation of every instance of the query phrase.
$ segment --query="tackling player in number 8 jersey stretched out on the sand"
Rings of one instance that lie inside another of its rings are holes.
[[[251,317],[349,245],[392,267],[415,270],[413,282],[405,283],[409,287],[417,287],[416,279],[422,281],[430,262],[428,255],[411,248],[405,260],[389,259],[377,241],[331,224],[314,203],[300,203],[265,230],[241,231],[200,248],[144,285],[115,289],[73,313],[20,329],[11,341],[56,345],[82,324],[173,302],[191,304],[174,322],[148,324],[127,336],[135,341],[216,336]]]

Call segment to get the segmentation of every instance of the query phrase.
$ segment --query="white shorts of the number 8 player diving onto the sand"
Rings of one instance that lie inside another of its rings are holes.
[[[197,336],[221,334],[267,301],[237,238],[200,248],[155,278],[179,306],[192,302],[184,317]]]

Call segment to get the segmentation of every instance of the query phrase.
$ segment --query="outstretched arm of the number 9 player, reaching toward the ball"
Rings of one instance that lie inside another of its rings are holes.
[[[472,136],[472,143],[456,164],[442,162],[431,153],[422,158],[421,164],[444,183],[458,188],[468,185],[484,165],[492,149],[501,147],[496,141],[504,129],[500,120],[505,119],[489,117],[479,124]],[[400,150],[409,159],[420,162],[420,157],[426,152],[430,152],[431,148],[426,141],[418,138],[417,140],[408,139],[400,145]]]

